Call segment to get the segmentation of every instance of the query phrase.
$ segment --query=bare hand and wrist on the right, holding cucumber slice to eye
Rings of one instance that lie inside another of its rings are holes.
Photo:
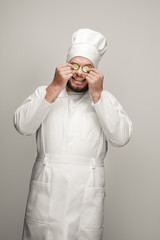
[[[96,68],[89,68],[86,80],[88,82],[89,93],[93,98],[93,102],[96,103],[101,97],[103,90],[104,76]]]

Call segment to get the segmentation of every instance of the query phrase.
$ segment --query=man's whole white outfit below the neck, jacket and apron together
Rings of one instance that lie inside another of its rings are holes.
[[[132,123],[107,91],[94,104],[88,92],[74,103],[64,89],[50,104],[45,89],[14,116],[16,129],[37,140],[22,240],[102,240],[108,141],[126,144]]]

